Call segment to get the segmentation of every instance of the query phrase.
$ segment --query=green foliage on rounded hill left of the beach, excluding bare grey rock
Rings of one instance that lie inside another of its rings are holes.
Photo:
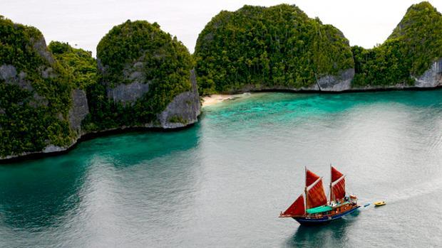
[[[84,126],[94,131],[118,126],[140,126],[156,121],[176,95],[191,89],[192,56],[176,37],[160,29],[158,23],[126,21],[115,26],[97,46],[97,58],[103,67],[98,83],[88,87],[91,116]],[[131,83],[125,70],[141,63],[149,91],[133,104],[113,102],[107,87]]]

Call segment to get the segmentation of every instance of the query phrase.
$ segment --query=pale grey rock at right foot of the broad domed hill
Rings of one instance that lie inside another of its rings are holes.
[[[350,68],[340,72],[337,76],[327,75],[320,77],[317,80],[317,84],[321,91],[340,92],[351,90],[351,80],[353,80],[353,77],[354,68]]]

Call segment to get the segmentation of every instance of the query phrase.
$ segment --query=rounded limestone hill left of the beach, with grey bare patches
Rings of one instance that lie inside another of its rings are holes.
[[[200,99],[192,56],[157,23],[126,21],[97,47],[98,83],[88,93],[89,131],[165,129],[197,121]]]

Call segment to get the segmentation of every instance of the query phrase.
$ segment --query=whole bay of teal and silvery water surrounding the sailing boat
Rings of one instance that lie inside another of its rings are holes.
[[[331,225],[279,219],[304,166],[360,203]],[[0,166],[0,247],[437,247],[442,91],[266,93],[183,131],[131,133]]]

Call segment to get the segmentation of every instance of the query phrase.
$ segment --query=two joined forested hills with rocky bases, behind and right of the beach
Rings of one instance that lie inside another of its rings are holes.
[[[195,46],[200,93],[374,90],[442,85],[441,14],[411,6],[381,45],[350,48],[338,29],[297,6],[221,11]]]

